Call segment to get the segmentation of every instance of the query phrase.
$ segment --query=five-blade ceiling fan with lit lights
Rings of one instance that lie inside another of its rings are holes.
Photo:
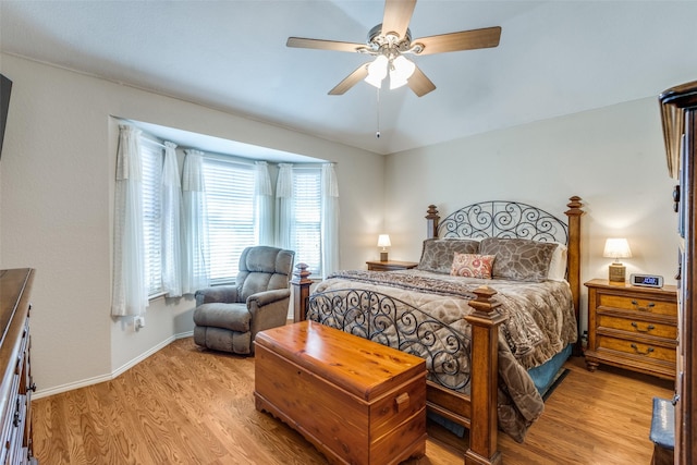
[[[436,85],[405,56],[474,50],[499,45],[501,27],[498,26],[412,40],[408,25],[415,5],[416,0],[386,0],[382,23],[370,29],[366,44],[289,37],[285,45],[296,48],[358,52],[375,57],[374,61],[362,64],[346,76],[329,91],[329,95],[343,95],[362,79],[380,88],[382,79],[389,74],[390,88],[406,84],[418,97],[435,90]]]

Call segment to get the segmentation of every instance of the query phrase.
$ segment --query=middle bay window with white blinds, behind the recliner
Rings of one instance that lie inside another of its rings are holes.
[[[234,281],[242,250],[257,243],[254,166],[204,158],[210,283]]]

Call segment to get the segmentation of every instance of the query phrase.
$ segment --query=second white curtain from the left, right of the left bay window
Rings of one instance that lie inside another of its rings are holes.
[[[176,144],[164,143],[162,167],[162,289],[170,297],[182,295],[182,187]]]

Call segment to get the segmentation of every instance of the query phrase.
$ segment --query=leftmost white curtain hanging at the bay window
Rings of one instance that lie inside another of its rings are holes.
[[[148,306],[143,240],[140,131],[119,125],[111,315],[143,315]]]

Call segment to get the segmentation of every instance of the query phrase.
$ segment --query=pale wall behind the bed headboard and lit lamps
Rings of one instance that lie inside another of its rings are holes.
[[[444,217],[470,203],[514,199],[564,218],[568,197],[578,195],[586,210],[584,281],[607,277],[604,240],[623,236],[634,254],[622,260],[627,274],[659,273],[674,284],[674,183],[664,154],[651,97],[391,155],[384,220],[391,255],[418,259],[429,204]]]

